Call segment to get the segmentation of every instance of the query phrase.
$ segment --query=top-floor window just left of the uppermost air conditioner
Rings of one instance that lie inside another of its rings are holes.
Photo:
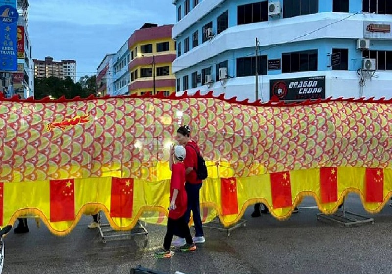
[[[237,7],[237,24],[244,25],[268,21],[268,1]]]

